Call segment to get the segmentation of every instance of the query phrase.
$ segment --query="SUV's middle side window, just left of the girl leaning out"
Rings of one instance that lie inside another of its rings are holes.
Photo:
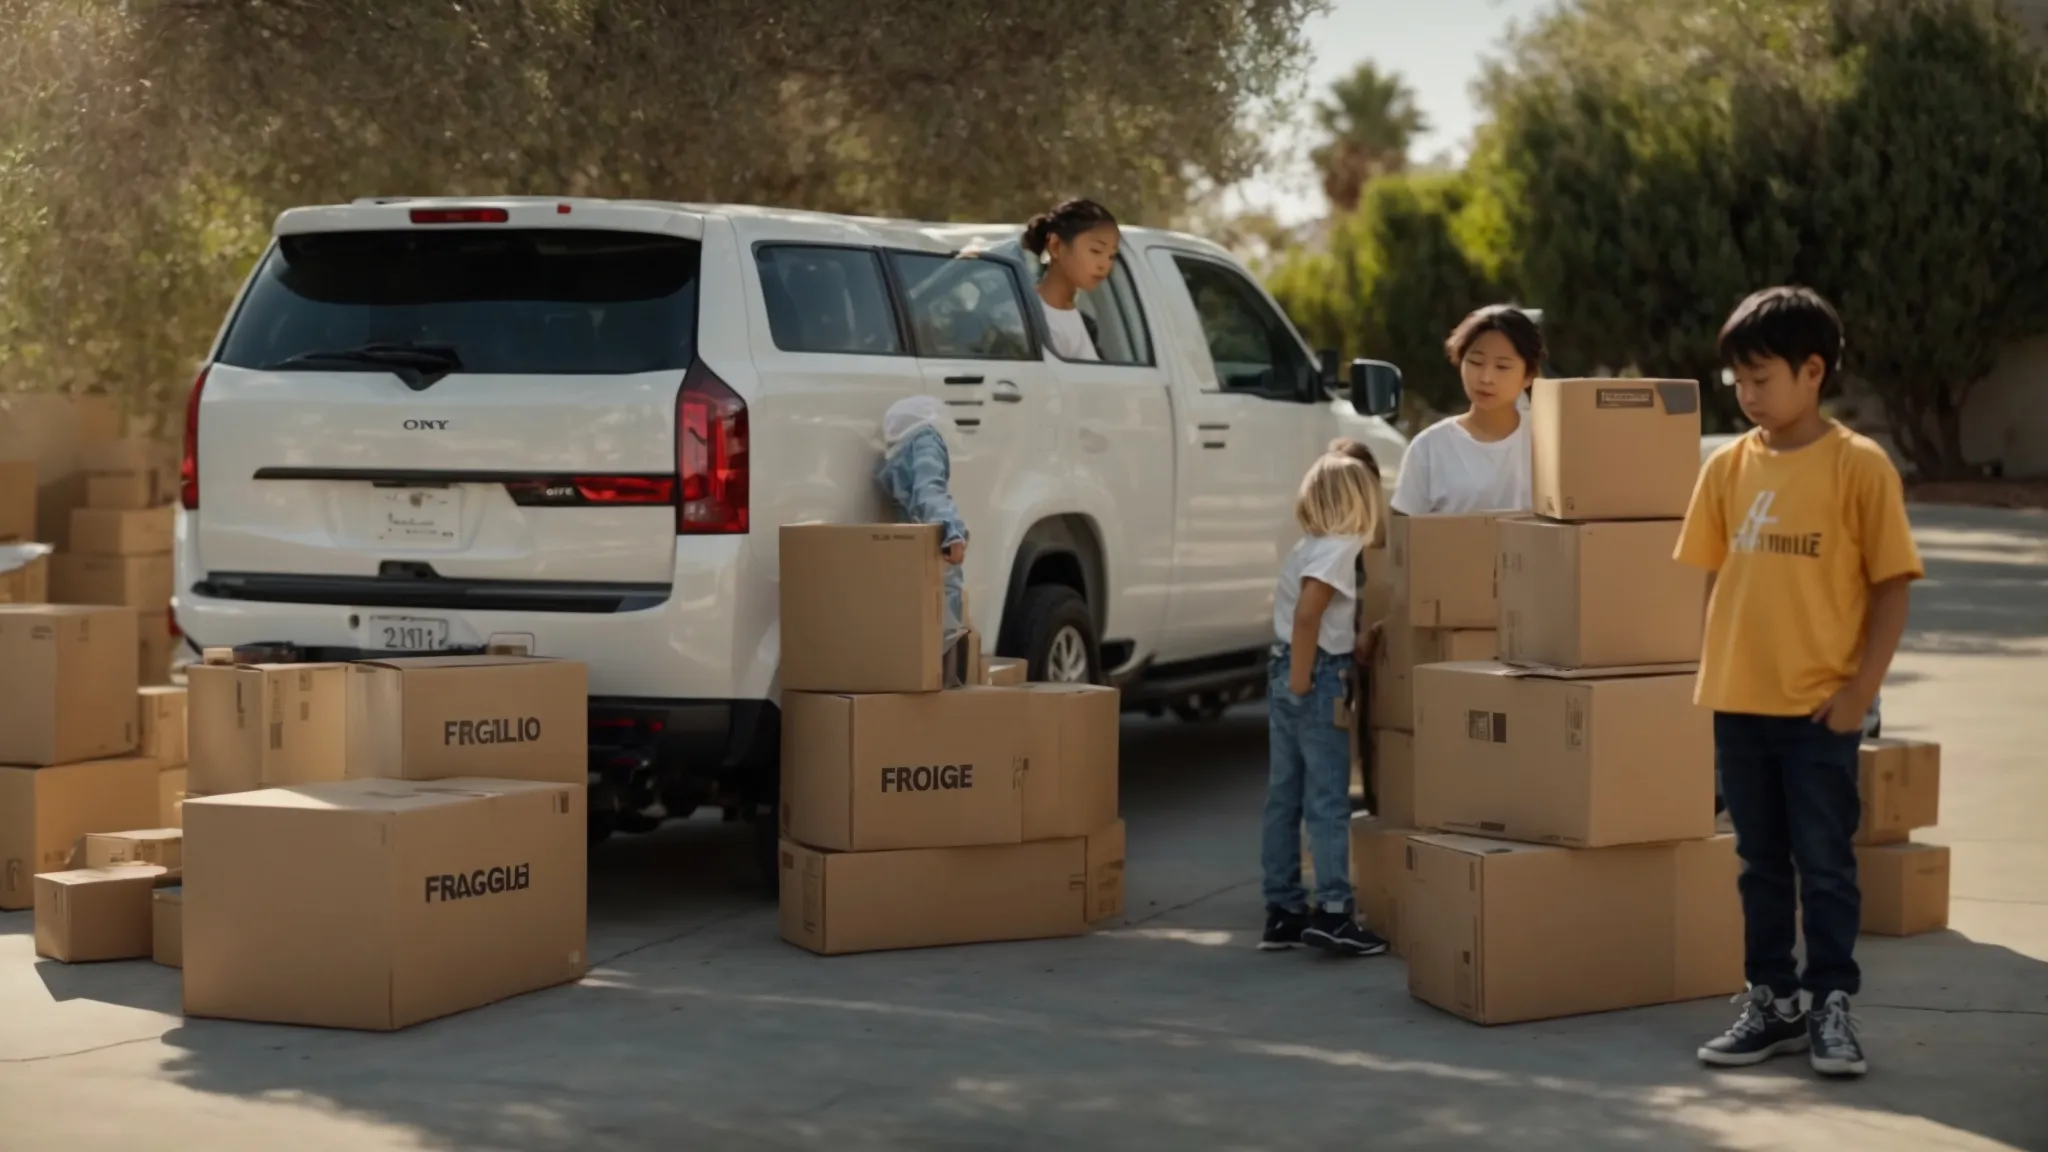
[[[1024,297],[999,260],[891,252],[920,357],[1034,359]]]

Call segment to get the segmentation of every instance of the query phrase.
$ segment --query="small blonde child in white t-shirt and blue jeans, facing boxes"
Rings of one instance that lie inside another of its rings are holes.
[[[1386,941],[1356,918],[1352,898],[1352,750],[1337,728],[1343,672],[1358,642],[1358,553],[1378,525],[1378,478],[1348,455],[1309,467],[1294,500],[1305,533],[1274,588],[1268,683],[1266,951],[1309,947],[1378,955]],[[1300,883],[1300,826],[1315,853],[1315,904]]]

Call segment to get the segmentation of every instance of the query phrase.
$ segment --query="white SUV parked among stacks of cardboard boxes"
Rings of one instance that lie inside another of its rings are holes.
[[[963,430],[967,586],[997,652],[1188,715],[1255,691],[1303,469],[1350,435],[1391,478],[1405,441],[1208,242],[1124,232],[1083,301],[1102,363],[1047,351],[1032,273],[1010,225],[287,211],[186,408],[186,658],[584,660],[598,832],[758,812],[776,527],[887,519],[881,414],[924,392]],[[1352,375],[1391,410],[1399,373]]]

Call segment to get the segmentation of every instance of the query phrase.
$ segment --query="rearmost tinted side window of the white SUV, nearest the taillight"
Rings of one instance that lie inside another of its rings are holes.
[[[754,254],[768,332],[784,353],[903,353],[883,260],[868,248],[764,246]]]

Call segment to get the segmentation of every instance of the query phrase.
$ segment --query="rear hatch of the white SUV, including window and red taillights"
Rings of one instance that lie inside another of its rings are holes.
[[[287,213],[188,410],[203,590],[616,611],[578,588],[645,596],[678,533],[743,533],[745,408],[696,363],[700,228],[582,201]]]

